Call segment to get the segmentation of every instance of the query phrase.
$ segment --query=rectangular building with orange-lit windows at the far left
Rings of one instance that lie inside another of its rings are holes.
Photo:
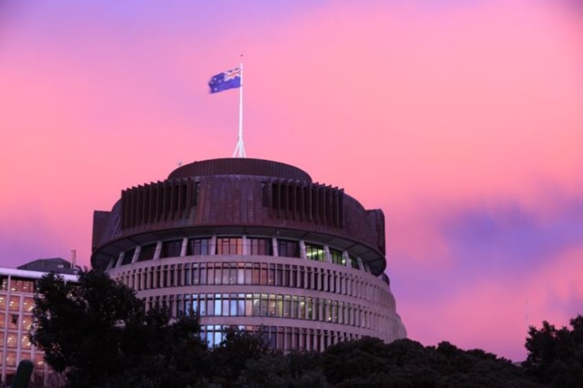
[[[71,269],[71,263],[63,259],[35,260],[23,266],[43,267],[39,264],[42,262],[47,267],[62,264],[63,269]],[[56,269],[53,271],[59,272]],[[12,382],[18,363],[25,359],[34,363],[32,380],[35,387],[43,387],[48,377],[49,369],[45,365],[44,353],[30,343],[28,335],[32,325],[34,286],[36,279],[43,275],[45,272],[0,268],[0,369],[3,383]],[[63,277],[70,282],[77,279],[76,275],[65,274]]]

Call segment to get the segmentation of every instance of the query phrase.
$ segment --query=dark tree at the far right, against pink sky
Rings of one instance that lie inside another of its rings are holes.
[[[583,386],[583,316],[570,321],[572,330],[547,321],[540,330],[531,326],[526,341],[527,374],[551,387]]]

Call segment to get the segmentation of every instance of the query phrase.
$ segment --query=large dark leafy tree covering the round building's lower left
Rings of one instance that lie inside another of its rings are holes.
[[[34,299],[32,342],[69,387],[173,385],[164,379],[184,386],[204,370],[197,317],[170,324],[162,309],[144,312],[133,291],[103,271],[81,271],[76,283],[49,273]]]

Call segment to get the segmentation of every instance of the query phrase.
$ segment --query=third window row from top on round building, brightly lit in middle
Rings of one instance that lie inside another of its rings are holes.
[[[195,312],[200,317],[272,317],[305,319],[382,331],[388,318],[358,304],[333,299],[280,294],[213,293],[152,297],[146,308],[159,306],[177,317]]]

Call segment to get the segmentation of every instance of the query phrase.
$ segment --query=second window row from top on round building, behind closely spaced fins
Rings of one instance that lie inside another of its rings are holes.
[[[340,271],[295,264],[195,262],[128,271],[118,279],[134,290],[203,285],[252,285],[318,290],[360,297],[387,306],[388,290]]]

